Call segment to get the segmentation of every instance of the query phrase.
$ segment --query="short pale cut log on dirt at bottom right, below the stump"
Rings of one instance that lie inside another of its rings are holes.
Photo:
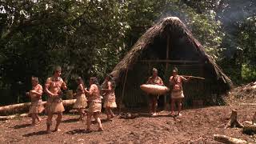
[[[230,143],[230,144],[248,143],[245,140],[238,139],[238,138],[228,137],[226,135],[221,135],[221,134],[214,134],[214,140],[218,141],[218,142]]]

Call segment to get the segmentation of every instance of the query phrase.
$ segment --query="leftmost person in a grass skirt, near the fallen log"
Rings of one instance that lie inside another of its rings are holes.
[[[37,124],[42,122],[42,118],[39,118],[38,114],[42,113],[44,107],[42,105],[42,86],[38,83],[38,78],[32,77],[31,82],[32,90],[26,94],[31,98],[30,114],[32,118],[32,126],[35,126],[36,119],[38,120]]]

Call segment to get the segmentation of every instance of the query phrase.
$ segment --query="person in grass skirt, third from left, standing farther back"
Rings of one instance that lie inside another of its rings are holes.
[[[78,89],[77,89],[77,93],[75,94],[76,101],[74,102],[73,108],[77,109],[78,113],[80,114],[80,117],[78,119],[83,120],[83,117],[85,115],[84,110],[86,109],[86,106],[87,106],[85,86],[81,77],[77,78],[77,83],[78,83]]]

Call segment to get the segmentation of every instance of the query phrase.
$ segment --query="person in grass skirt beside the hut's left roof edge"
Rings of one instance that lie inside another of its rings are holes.
[[[115,82],[113,79],[113,75],[107,74],[105,78],[105,83],[103,83],[103,97],[105,99],[103,107],[106,109],[107,120],[114,118],[114,113],[111,109],[117,107],[117,103],[115,102]]]

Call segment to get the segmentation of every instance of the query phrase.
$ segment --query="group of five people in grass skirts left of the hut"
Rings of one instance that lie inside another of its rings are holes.
[[[54,75],[46,79],[44,90],[42,86],[38,83],[38,78],[32,77],[32,90],[27,94],[31,98],[30,114],[32,118],[32,125],[36,125],[36,120],[38,123],[42,122],[42,118],[39,118],[38,114],[46,110],[47,120],[46,120],[46,132],[51,133],[50,126],[52,125],[52,118],[54,114],[57,114],[56,126],[53,132],[59,131],[58,126],[62,121],[62,112],[65,110],[62,103],[62,90],[67,90],[66,82],[61,78],[62,69],[57,66],[54,69]],[[98,79],[96,77],[90,77],[90,88],[87,89],[81,77],[76,79],[78,83],[78,88],[76,90],[73,108],[77,109],[80,118],[83,119],[84,115],[87,115],[86,125],[87,132],[90,132],[91,117],[94,116],[95,120],[98,122],[98,130],[102,131],[102,122],[100,119],[100,114],[102,111],[102,96],[104,98],[103,107],[106,110],[107,119],[110,120],[114,118],[114,113],[112,109],[117,107],[115,102],[114,87],[115,83],[113,76],[107,74],[105,82],[102,86],[99,86]],[[43,91],[47,94],[46,107],[42,105],[42,93]],[[88,110],[86,110],[88,107]],[[86,113],[85,113],[86,110]]]

